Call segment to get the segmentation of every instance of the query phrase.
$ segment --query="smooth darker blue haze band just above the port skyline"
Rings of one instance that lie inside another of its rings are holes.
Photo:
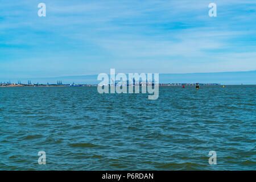
[[[51,77],[51,78],[23,78],[12,79],[11,82],[17,82],[20,80],[22,83],[27,83],[27,80],[31,80],[32,83],[49,84],[56,83],[57,80],[61,80],[63,84],[69,84],[72,82],[80,84],[97,84],[97,75],[84,75],[84,76],[64,76],[64,77]],[[9,80],[1,80],[9,81]],[[179,73],[179,74],[160,74],[160,83],[217,83],[217,84],[256,84],[256,71],[248,72],[218,72],[218,73]]]

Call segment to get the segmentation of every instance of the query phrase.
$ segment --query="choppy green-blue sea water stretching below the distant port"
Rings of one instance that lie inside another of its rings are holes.
[[[0,169],[255,170],[255,92],[166,86],[148,100],[96,87],[0,88]]]

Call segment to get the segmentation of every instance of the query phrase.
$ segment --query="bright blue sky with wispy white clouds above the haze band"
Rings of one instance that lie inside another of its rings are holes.
[[[0,1],[0,78],[253,71],[255,23],[255,0]]]

